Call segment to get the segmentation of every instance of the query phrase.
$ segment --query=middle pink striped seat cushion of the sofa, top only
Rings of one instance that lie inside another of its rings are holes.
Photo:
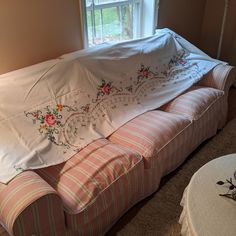
[[[109,140],[140,153],[145,158],[147,168],[150,157],[156,155],[190,124],[191,121],[181,115],[149,111],[120,127]]]

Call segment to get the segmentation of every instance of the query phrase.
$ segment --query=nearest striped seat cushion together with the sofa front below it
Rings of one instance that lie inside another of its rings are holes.
[[[66,163],[37,173],[60,195],[68,228],[97,235],[141,199],[143,170],[141,155],[99,139]]]

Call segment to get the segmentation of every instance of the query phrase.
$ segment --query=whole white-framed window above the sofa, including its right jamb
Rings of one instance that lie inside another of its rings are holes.
[[[154,10],[155,0],[86,0],[89,46],[153,34]]]

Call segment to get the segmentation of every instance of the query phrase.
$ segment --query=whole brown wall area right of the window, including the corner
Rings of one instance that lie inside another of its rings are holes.
[[[221,60],[236,65],[236,1],[229,1]],[[160,0],[158,27],[169,27],[217,56],[224,0]]]

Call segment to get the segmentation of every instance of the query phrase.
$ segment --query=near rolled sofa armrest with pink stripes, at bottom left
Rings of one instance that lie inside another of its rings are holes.
[[[61,199],[34,171],[0,184],[0,222],[10,235],[65,234]]]

